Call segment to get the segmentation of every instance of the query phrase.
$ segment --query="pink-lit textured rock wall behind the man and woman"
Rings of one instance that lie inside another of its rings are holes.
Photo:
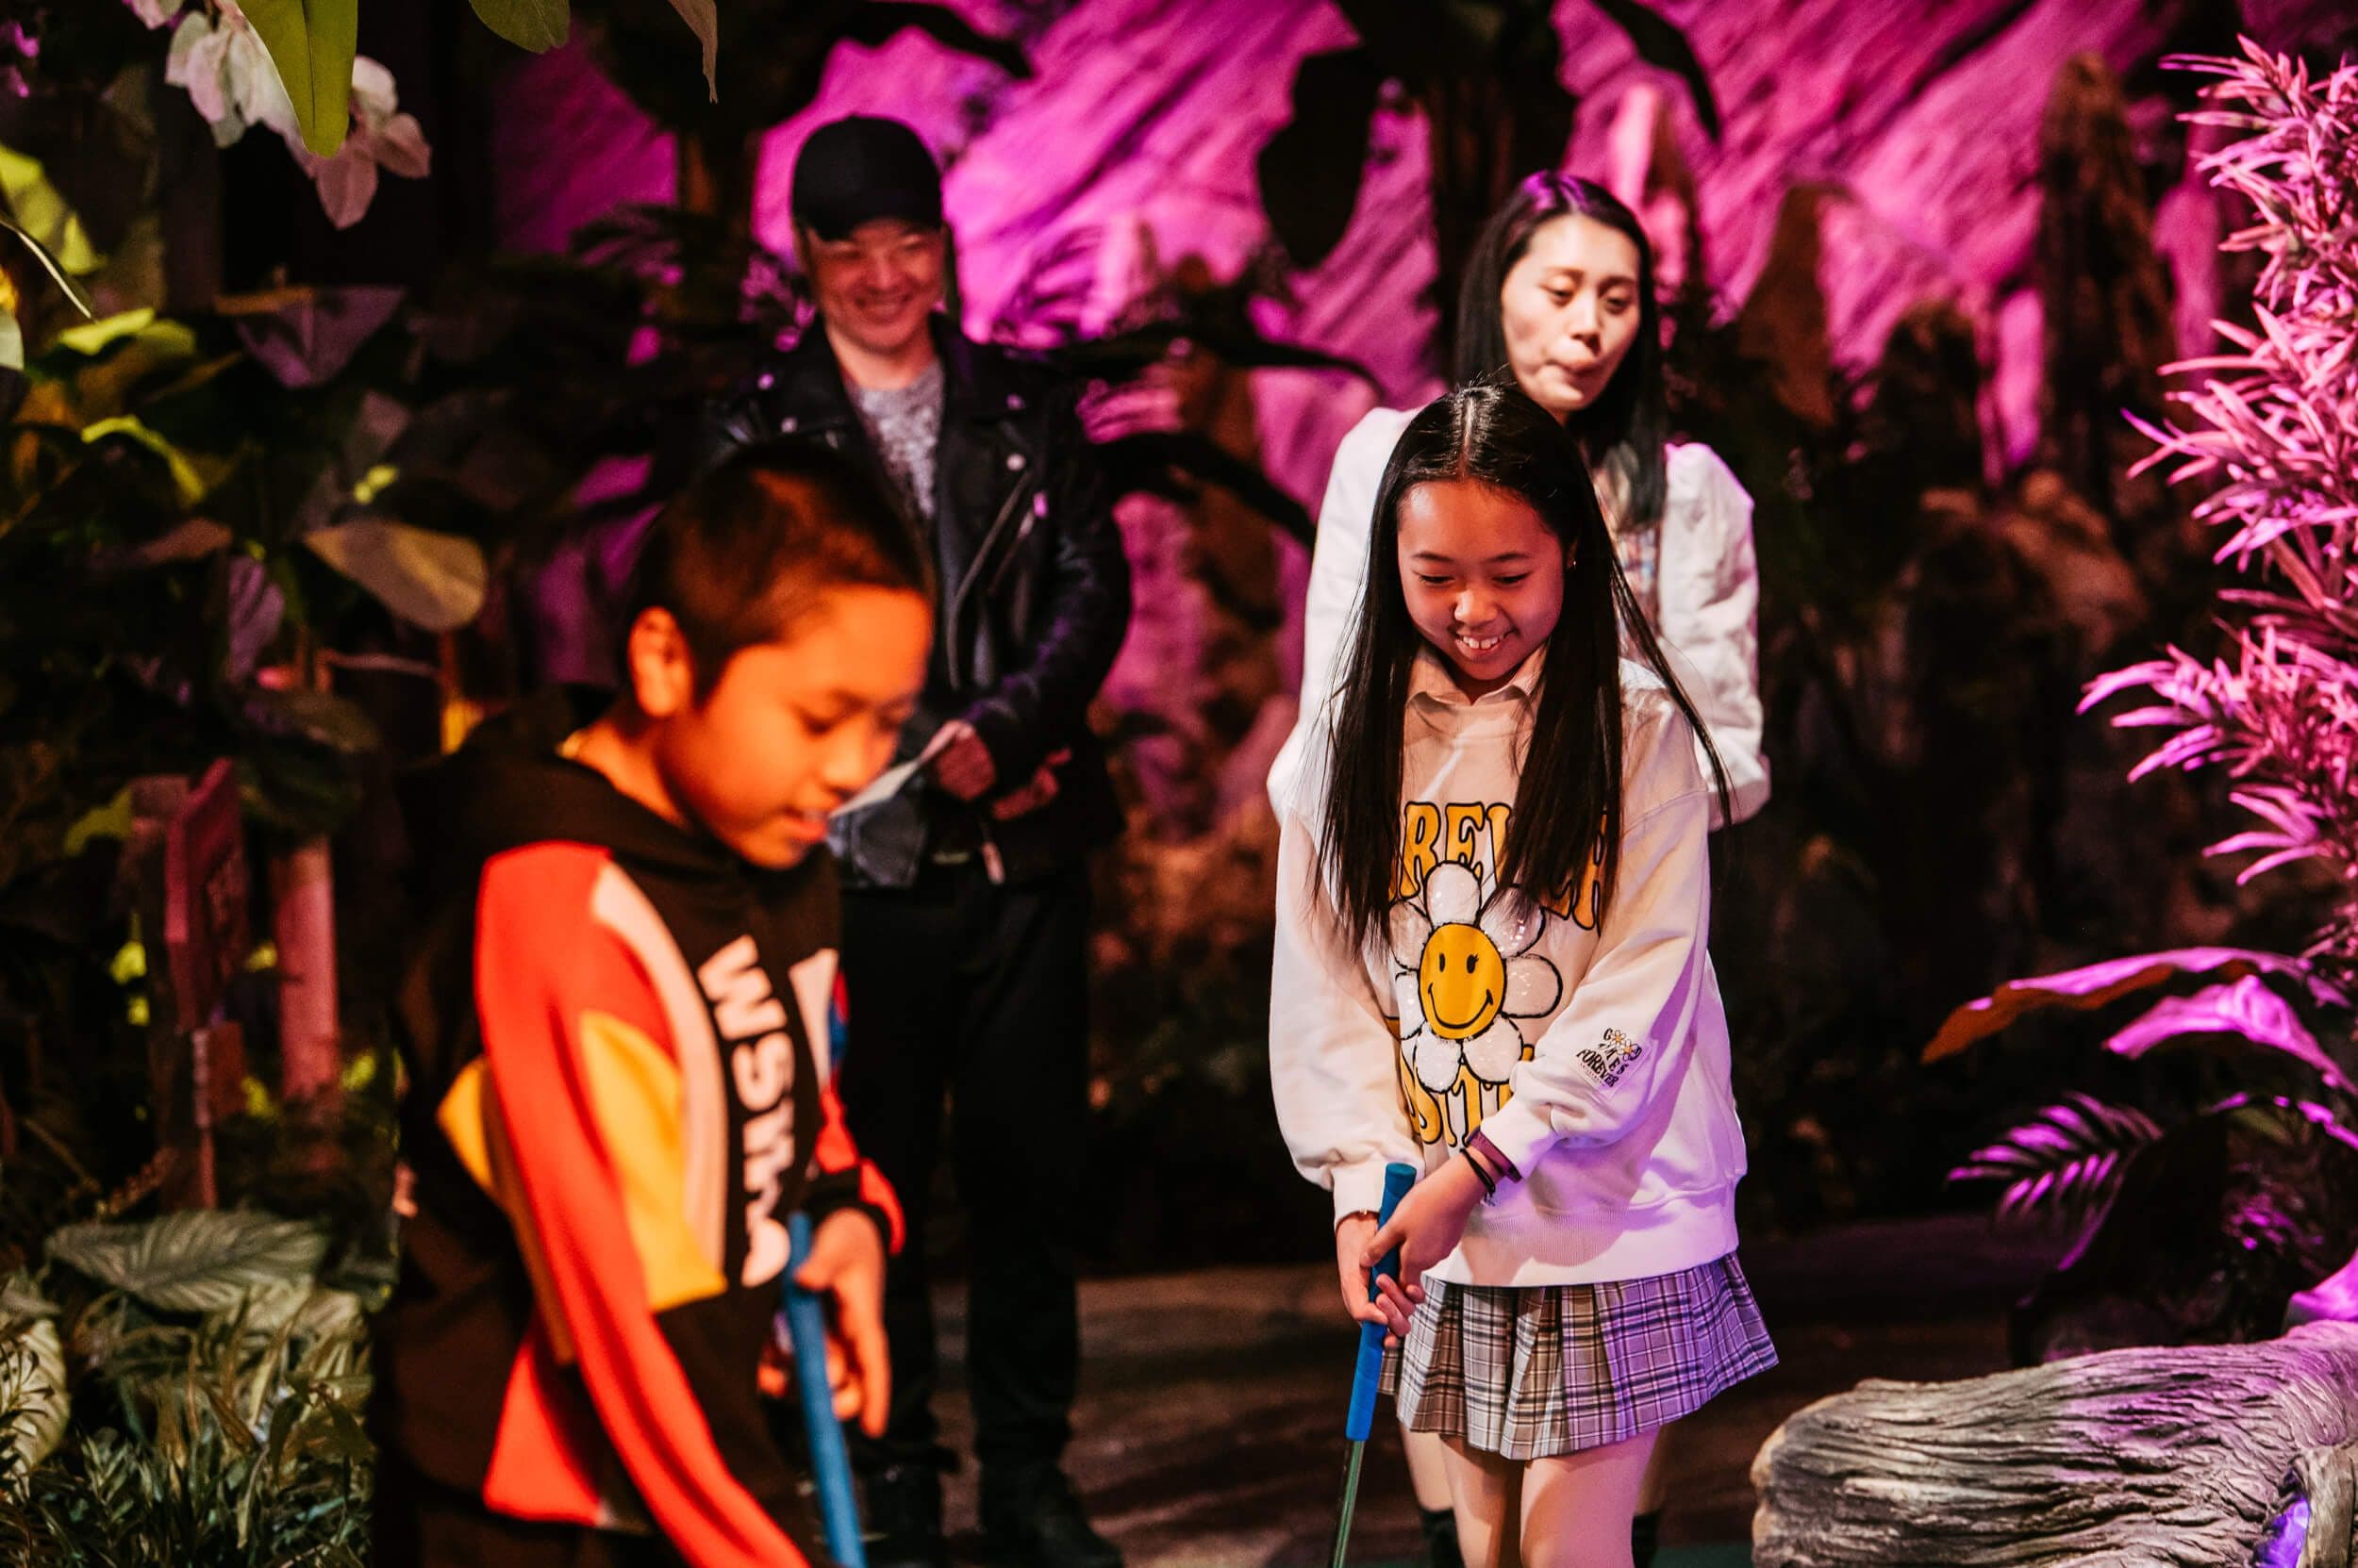
[[[788,243],[785,177],[802,137],[839,113],[894,113],[950,156],[967,318],[997,316],[1030,262],[1080,229],[1148,224],[1167,255],[1233,276],[1269,236],[1252,158],[1290,113],[1295,64],[1351,42],[1330,0],[957,0],[976,26],[1016,35],[1016,83],[915,33],[837,50],[818,101],[771,134],[755,226]],[[2332,45],[2337,0],[1714,0],[1658,5],[1712,78],[1724,134],[1695,123],[1684,87],[1636,59],[1589,0],[1561,0],[1561,80],[1580,99],[1563,165],[1613,174],[1627,99],[1660,92],[1693,172],[1710,283],[1735,299],[1768,262],[1785,191],[1823,184],[1825,307],[1837,358],[1868,363],[1922,297],[1959,302],[2000,337],[2021,302],[2009,424],[2035,429],[2040,309],[2040,123],[2059,64],[2089,52],[2132,83],[2153,123],[2155,61],[2231,47],[2238,17],[2261,42]],[[747,45],[750,47],[750,45]],[[2186,87],[2181,85],[2181,92]],[[526,61],[498,104],[507,236],[556,245],[618,200],[663,200],[677,158],[580,50]],[[2167,170],[2174,184],[2176,167]],[[1618,182],[1615,182],[1618,184]],[[2184,245],[2179,255],[2198,255]],[[1342,248],[1292,281],[1271,330],[1368,363],[1391,401],[1434,389],[1427,144],[1405,116],[1375,125],[1372,167]],[[2186,292],[2181,278],[2181,295]],[[2188,321],[2207,314],[2186,311]],[[1330,387],[1273,382],[1262,398],[1271,472],[1316,498],[1358,415]]]

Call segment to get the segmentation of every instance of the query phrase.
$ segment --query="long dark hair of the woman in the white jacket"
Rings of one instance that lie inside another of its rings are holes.
[[[1629,236],[1636,245],[1636,342],[1603,396],[1566,420],[1592,474],[1613,474],[1625,486],[1625,528],[1662,521],[1669,498],[1669,398],[1662,384],[1662,307],[1653,290],[1653,245],[1636,212],[1613,191],[1575,174],[1540,172],[1514,189],[1467,257],[1457,295],[1455,382],[1467,387],[1507,368],[1507,323],[1500,295],[1507,274],[1530,250],[1530,236],[1559,217],[1589,217]]]

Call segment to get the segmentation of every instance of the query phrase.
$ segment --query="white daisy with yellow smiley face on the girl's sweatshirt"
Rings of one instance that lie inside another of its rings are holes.
[[[1391,905],[1401,1054],[1427,1092],[1445,1096],[1460,1073],[1490,1087],[1514,1073],[1528,1045],[1519,1021],[1563,997],[1563,976],[1530,953],[1544,929],[1544,908],[1504,889],[1486,896],[1483,875],[1457,861]]]

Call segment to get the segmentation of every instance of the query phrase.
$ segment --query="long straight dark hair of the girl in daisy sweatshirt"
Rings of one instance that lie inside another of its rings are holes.
[[[1453,479],[1516,495],[1573,552],[1563,613],[1547,637],[1530,733],[1516,759],[1514,830],[1497,849],[1497,884],[1535,903],[1573,889],[1601,828],[1599,917],[1613,903],[1622,828],[1622,630],[1702,736],[1726,813],[1728,776],[1719,750],[1629,594],[1587,469],[1563,429],[1511,377],[1486,377],[1427,403],[1408,422],[1375,495],[1368,592],[1339,684],[1318,835],[1318,863],[1335,889],[1342,929],[1363,950],[1387,931],[1396,891],[1408,686],[1424,648],[1401,589],[1401,500],[1422,483]]]

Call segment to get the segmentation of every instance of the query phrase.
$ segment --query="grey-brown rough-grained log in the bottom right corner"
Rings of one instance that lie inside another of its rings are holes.
[[[2106,1351],[1952,1384],[1863,1382],[1752,1460],[1757,1568],[2351,1568],[2358,1325]]]

